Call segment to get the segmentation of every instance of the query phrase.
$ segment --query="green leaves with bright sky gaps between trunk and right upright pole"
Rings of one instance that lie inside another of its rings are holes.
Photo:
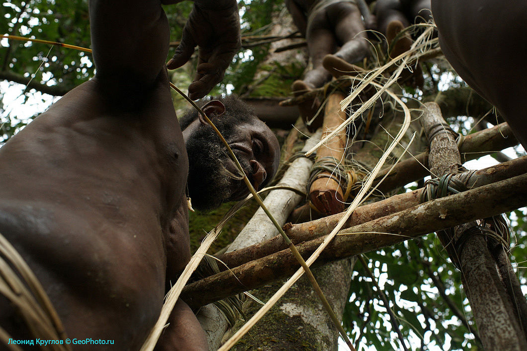
[[[435,235],[428,235],[386,247],[367,255],[368,266],[390,303],[403,337],[412,340],[412,349],[417,349],[418,344],[422,349],[466,349],[475,345],[470,340],[473,336],[469,336],[469,331],[445,303],[440,290],[459,310],[467,302],[458,272],[447,262],[438,245],[441,244],[436,242]],[[389,316],[383,312],[386,307],[372,277],[360,264],[355,269],[343,322],[348,333],[376,349],[401,349]],[[444,286],[433,283],[431,275],[434,274]],[[462,317],[470,320],[466,314]]]

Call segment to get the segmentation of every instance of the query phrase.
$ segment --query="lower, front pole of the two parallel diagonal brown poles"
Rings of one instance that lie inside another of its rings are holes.
[[[527,174],[522,174],[341,230],[321,253],[315,265],[321,266],[477,218],[492,217],[523,207],[527,205],[525,184]],[[459,208],[464,210],[459,211]],[[324,239],[319,237],[298,245],[299,253],[302,257],[308,257]],[[297,260],[286,249],[189,284],[181,296],[190,306],[198,307],[287,277],[296,272],[298,267]]]

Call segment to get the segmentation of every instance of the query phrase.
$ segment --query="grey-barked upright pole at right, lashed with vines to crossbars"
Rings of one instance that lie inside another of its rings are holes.
[[[430,143],[428,165],[432,176],[458,173],[461,155],[455,142],[456,135],[443,119],[439,105],[425,103],[421,122]],[[463,210],[463,207],[458,209],[460,212]],[[522,295],[514,304],[508,296],[487,247],[487,241],[491,239],[485,237],[484,229],[474,220],[467,220],[467,223],[450,230],[437,230],[436,234],[452,262],[461,270],[464,290],[474,311],[483,347],[489,350],[525,350],[527,339],[517,311],[520,308],[515,308],[525,304],[525,298]]]

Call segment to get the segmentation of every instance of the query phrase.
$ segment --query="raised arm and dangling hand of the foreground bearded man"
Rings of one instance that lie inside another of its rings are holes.
[[[161,4],[181,0],[91,0],[92,49],[97,78],[131,89],[152,86],[164,67],[169,24]],[[186,63],[200,47],[193,99],[218,84],[240,47],[236,0],[196,0],[169,68]]]

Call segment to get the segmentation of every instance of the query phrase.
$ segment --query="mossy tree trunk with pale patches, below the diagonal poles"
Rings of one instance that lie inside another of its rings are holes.
[[[355,257],[313,270],[331,308],[341,318],[349,292]],[[252,292],[267,301],[284,280]],[[250,301],[243,308],[247,318],[261,306]],[[240,325],[241,326],[241,323]],[[238,327],[239,327],[238,326]],[[279,302],[243,336],[233,350],[337,350],[338,331],[306,276],[301,277]]]

